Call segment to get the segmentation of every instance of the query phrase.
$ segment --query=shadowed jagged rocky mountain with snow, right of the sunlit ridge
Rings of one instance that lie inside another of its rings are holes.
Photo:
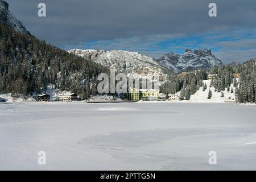
[[[210,49],[196,49],[193,52],[190,49],[186,49],[181,55],[171,52],[160,59],[155,59],[155,61],[174,72],[191,69],[210,69],[214,65],[222,65],[221,60],[212,55]]]

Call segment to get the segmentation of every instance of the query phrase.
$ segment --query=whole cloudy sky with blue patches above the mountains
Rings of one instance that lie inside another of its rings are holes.
[[[210,48],[224,63],[256,57],[255,0],[6,0],[32,35],[63,49],[160,57]],[[47,16],[38,16],[46,3]],[[209,3],[217,17],[209,17]]]

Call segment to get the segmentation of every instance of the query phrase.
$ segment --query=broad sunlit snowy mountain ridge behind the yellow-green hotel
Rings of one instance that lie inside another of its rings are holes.
[[[105,50],[80,50],[72,49],[69,53],[75,53],[102,64],[108,68],[114,68],[121,73],[159,73],[162,74],[168,69],[156,63],[151,57],[141,55],[138,52],[127,51],[105,51]],[[164,74],[162,74],[164,75]]]

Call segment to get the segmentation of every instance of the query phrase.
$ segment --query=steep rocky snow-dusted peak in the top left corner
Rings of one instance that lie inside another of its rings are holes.
[[[6,24],[18,32],[30,35],[23,24],[10,13],[8,3],[2,0],[0,0],[0,24]]]

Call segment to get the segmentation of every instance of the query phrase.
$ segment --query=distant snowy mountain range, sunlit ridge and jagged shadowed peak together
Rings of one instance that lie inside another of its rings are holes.
[[[160,59],[141,55],[138,52],[128,51],[106,51],[93,49],[71,49],[69,53],[86,57],[96,63],[108,68],[115,68],[119,72],[160,72],[189,71],[193,69],[211,69],[214,65],[222,65],[221,60],[217,59],[210,49],[196,49],[191,51],[186,49],[183,54],[167,53]]]

